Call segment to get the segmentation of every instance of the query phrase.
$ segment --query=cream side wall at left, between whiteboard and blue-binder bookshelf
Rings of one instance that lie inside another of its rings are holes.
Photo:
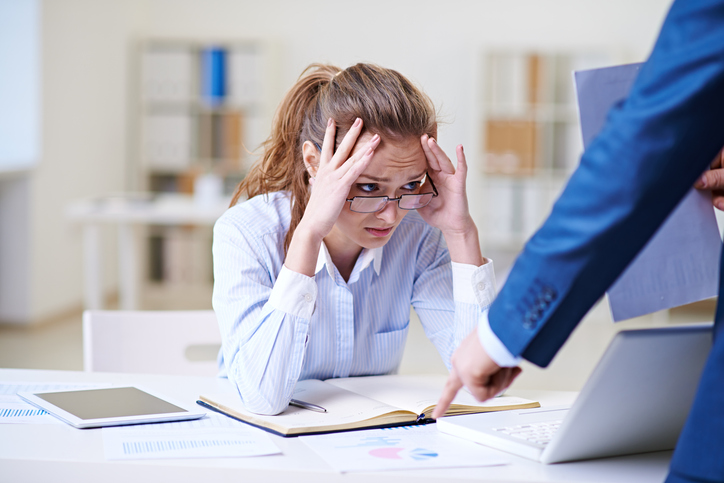
[[[126,57],[142,24],[140,6],[116,0],[43,2],[42,156],[35,168],[3,181],[1,240],[6,247],[25,246],[27,260],[2,267],[2,279],[13,281],[0,294],[2,322],[32,323],[80,308],[81,233],[64,209],[74,199],[125,187]],[[24,210],[23,223],[23,211],[13,209],[9,199]],[[27,226],[27,235],[17,226]],[[13,230],[12,238],[6,230]],[[110,251],[113,240],[107,238]],[[113,264],[108,269],[111,291]]]

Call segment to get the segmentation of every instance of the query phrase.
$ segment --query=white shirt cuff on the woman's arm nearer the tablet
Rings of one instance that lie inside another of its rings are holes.
[[[314,279],[282,265],[269,296],[269,305],[282,312],[311,319],[316,300],[317,283]]]

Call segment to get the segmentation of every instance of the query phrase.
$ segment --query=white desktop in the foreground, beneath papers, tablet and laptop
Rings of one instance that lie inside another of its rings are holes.
[[[231,389],[228,381],[207,377],[154,376],[0,369],[0,381],[106,382],[138,385],[194,403],[202,392]],[[570,404],[576,393],[517,391],[543,406]],[[0,424],[0,480],[20,482],[211,482],[264,481],[285,483],[347,481],[403,483],[407,481],[494,482],[661,482],[670,451],[618,458],[543,465],[512,455],[512,464],[497,467],[388,471],[340,474],[296,438],[272,435],[283,455],[251,458],[107,461],[99,429],[67,425]]]

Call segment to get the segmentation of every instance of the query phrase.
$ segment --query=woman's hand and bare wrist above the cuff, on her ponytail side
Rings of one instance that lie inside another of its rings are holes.
[[[367,168],[380,143],[380,136],[375,134],[350,156],[362,132],[362,120],[358,118],[334,152],[336,131],[335,122],[330,119],[324,133],[319,164],[309,166],[313,172],[313,182],[310,180],[312,192],[284,260],[289,270],[308,277],[314,276],[319,247],[337,222],[352,183]]]

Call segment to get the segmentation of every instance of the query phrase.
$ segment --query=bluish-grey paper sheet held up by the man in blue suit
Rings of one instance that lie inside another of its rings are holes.
[[[588,147],[601,130],[609,109],[626,98],[640,66],[575,73],[584,146]],[[716,296],[720,251],[721,235],[711,195],[692,189],[609,288],[613,320]]]

